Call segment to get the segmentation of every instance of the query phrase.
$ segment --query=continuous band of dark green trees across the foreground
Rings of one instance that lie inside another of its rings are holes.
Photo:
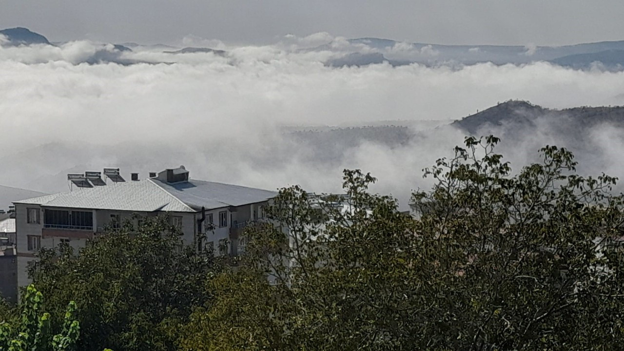
[[[575,174],[552,146],[512,172],[497,142],[426,169],[417,219],[345,171],[342,196],[282,189],[238,259],[172,250],[154,220],[42,252],[34,285],[54,333],[76,301],[80,350],[620,349],[616,179]]]

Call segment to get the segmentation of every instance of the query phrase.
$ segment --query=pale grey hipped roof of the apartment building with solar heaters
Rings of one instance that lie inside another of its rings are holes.
[[[168,184],[157,179],[119,182],[16,201],[47,207],[124,210],[133,212],[197,212],[263,202],[276,192],[238,185],[188,180]]]

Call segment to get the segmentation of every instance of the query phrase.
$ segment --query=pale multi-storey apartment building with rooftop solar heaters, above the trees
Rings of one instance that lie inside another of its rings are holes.
[[[27,267],[41,247],[66,242],[74,249],[125,220],[170,215],[187,245],[236,255],[243,250],[238,238],[246,225],[260,219],[262,207],[276,192],[189,178],[180,166],[126,182],[119,169],[68,175],[76,189],[14,202],[17,232],[17,284],[30,283]],[[110,184],[107,184],[109,183]],[[212,224],[212,225],[210,225]]]

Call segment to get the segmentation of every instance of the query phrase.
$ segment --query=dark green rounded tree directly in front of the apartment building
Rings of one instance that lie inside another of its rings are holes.
[[[180,235],[165,216],[127,222],[80,252],[42,250],[31,276],[51,310],[76,301],[80,350],[177,350],[180,325],[210,299],[205,282],[219,266]]]

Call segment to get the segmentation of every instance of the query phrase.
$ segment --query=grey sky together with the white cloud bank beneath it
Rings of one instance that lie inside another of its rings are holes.
[[[51,41],[67,41],[12,47],[0,38],[0,185],[59,192],[67,190],[67,173],[120,167],[122,174],[144,177],[184,165],[194,179],[339,192],[348,168],[372,172],[379,179],[374,191],[405,205],[412,190],[431,185],[422,169],[451,156],[464,133],[444,127],[399,146],[329,140],[310,147],[285,126],[402,121],[416,128],[431,120],[447,124],[509,99],[557,109],[622,106],[624,71],[531,61],[324,64],[364,49],[345,38],[517,44],[527,46],[516,54],[525,57],[536,44],[624,39],[623,10],[621,0],[391,6],[369,0],[0,0],[0,27],[29,27]],[[102,44],[127,41],[208,46],[227,54],[176,55],[154,47],[119,53]],[[328,42],[331,49],[305,50]],[[437,54],[404,42],[388,50]],[[85,63],[94,57],[142,63]],[[579,155],[590,165],[585,170],[622,174],[624,131],[602,126],[587,132],[591,151]],[[541,146],[567,142],[547,124],[515,140],[522,142],[503,151],[517,169],[534,161]]]

